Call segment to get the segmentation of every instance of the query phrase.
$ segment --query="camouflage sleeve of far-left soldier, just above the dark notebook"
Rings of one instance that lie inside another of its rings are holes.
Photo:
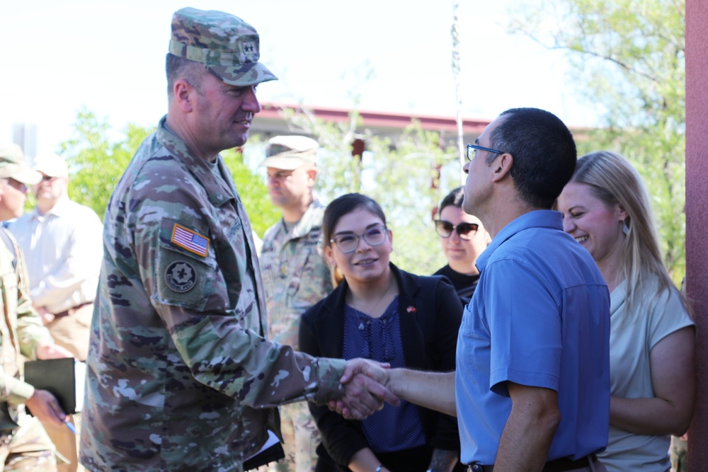
[[[13,241],[14,242],[14,241]],[[30,360],[36,359],[38,345],[54,344],[52,335],[45,328],[30,299],[29,278],[22,251],[15,243],[17,265],[17,333],[20,352]],[[30,394],[31,395],[31,394]]]

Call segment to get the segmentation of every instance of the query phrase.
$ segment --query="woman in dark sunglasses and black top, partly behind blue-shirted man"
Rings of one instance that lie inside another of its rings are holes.
[[[435,231],[440,236],[440,246],[447,258],[447,265],[434,275],[447,277],[455,287],[462,304],[466,305],[472,299],[479,281],[479,270],[474,264],[477,256],[491,242],[491,238],[477,217],[464,212],[463,197],[464,188],[458,187],[440,202]]]

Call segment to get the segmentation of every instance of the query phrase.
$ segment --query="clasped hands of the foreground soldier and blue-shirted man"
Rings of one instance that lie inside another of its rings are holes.
[[[366,359],[348,360],[341,378],[344,396],[340,401],[331,401],[329,408],[348,420],[363,420],[383,408],[384,401],[398,406],[401,401],[387,383],[388,364],[379,364]]]

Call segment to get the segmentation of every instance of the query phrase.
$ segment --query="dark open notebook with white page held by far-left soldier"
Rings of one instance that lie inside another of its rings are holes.
[[[25,362],[25,382],[57,397],[64,413],[73,415],[84,404],[86,364],[73,357]]]

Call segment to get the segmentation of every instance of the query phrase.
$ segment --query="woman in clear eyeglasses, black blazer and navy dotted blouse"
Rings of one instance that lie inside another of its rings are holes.
[[[325,209],[322,233],[337,287],[302,315],[300,349],[454,370],[462,316],[455,289],[443,277],[419,277],[389,262],[393,234],[379,204],[358,193],[338,197]],[[318,472],[464,470],[455,418],[407,402],[363,421],[309,408],[322,438]]]

